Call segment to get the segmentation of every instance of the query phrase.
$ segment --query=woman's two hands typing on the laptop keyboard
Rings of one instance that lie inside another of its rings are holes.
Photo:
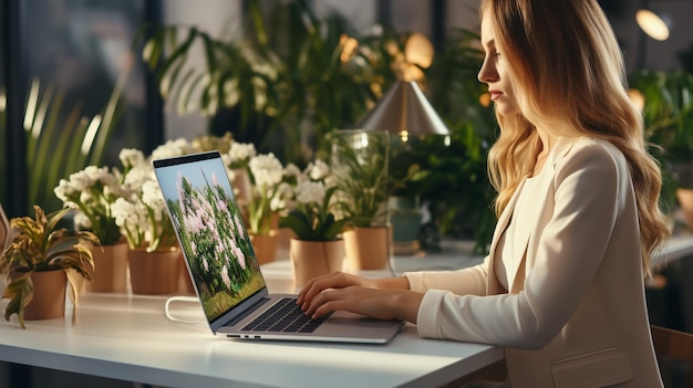
[[[318,318],[348,311],[379,319],[403,318],[416,323],[423,294],[408,291],[405,277],[371,280],[341,272],[317,277],[299,293],[307,315]]]

